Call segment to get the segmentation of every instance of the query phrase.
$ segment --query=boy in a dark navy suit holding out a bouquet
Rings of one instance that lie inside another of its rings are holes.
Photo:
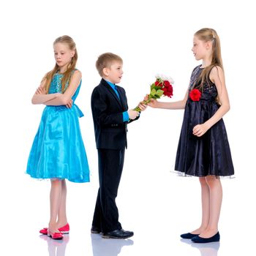
[[[137,120],[139,112],[128,110],[127,97],[120,83],[123,61],[113,53],[103,53],[96,62],[99,85],[91,94],[91,111],[98,150],[99,191],[94,210],[91,233],[102,238],[129,238],[132,231],[123,230],[118,222],[116,196],[127,147],[127,123]],[[146,105],[139,105],[141,110]]]

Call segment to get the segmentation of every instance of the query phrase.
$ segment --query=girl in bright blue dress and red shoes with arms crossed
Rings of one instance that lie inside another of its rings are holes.
[[[53,43],[55,67],[35,92],[32,103],[46,105],[26,169],[32,178],[50,179],[50,222],[40,233],[53,239],[69,232],[66,214],[67,180],[89,182],[89,165],[78,118],[83,116],[75,99],[81,72],[75,69],[78,53],[69,36]]]

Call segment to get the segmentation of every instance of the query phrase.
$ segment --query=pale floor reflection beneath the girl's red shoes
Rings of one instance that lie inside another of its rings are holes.
[[[43,240],[47,241],[49,256],[64,256],[66,252],[66,246],[69,242],[69,235],[64,235],[61,240],[55,240],[48,236],[39,236]]]

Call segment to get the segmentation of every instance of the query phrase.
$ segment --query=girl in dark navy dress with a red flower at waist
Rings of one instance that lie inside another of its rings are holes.
[[[225,86],[220,42],[214,29],[200,29],[194,35],[192,52],[200,66],[192,71],[183,100],[157,102],[152,108],[184,109],[175,170],[183,176],[199,177],[202,195],[202,222],[182,238],[195,243],[219,241],[218,222],[222,205],[219,177],[234,174],[230,146],[222,116],[230,110]]]

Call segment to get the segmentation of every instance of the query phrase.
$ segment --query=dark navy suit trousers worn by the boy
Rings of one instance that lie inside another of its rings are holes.
[[[92,225],[102,233],[121,229],[116,196],[124,166],[123,149],[98,149],[99,191]]]

